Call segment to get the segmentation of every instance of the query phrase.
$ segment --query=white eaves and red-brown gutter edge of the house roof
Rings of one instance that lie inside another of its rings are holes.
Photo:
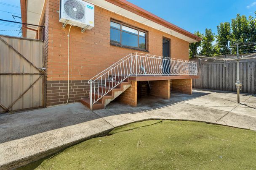
[[[119,15],[130,18],[134,21],[138,21],[142,24],[150,26],[152,28],[158,29],[160,31],[166,32],[183,39],[189,43],[200,41],[201,38],[197,37],[195,34],[190,33],[179,26],[171,24],[165,21],[147,10],[144,10],[126,0],[85,0],[88,3],[100,6],[109,11],[115,12]],[[21,0],[21,18],[23,22],[29,24],[40,24],[40,18],[43,12],[45,0]],[[39,12],[38,12],[39,11]],[[41,12],[41,13],[40,13]],[[29,26],[28,26],[29,27]],[[31,27],[35,29],[35,27]],[[33,31],[27,30],[25,34],[27,36],[34,36]],[[30,37],[33,38],[33,37]]]

